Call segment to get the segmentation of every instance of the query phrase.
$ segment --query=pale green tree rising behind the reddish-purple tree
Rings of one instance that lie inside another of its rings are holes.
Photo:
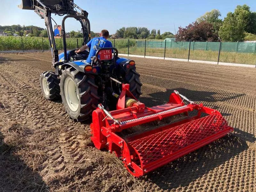
[[[219,19],[221,16],[220,11],[218,9],[213,9],[210,12],[204,13],[201,17],[197,18],[197,22],[203,22],[206,21],[208,23],[211,23],[214,30],[218,32],[220,30],[220,26],[222,25],[222,20]]]

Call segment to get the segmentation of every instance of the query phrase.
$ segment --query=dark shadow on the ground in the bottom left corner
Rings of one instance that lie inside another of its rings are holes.
[[[49,191],[42,177],[14,155],[14,147],[4,143],[3,139],[4,136],[0,131],[0,191]]]

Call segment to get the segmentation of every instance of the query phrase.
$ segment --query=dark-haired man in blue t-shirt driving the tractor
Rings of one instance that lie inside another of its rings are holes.
[[[83,45],[80,49],[76,50],[75,52],[80,53],[80,52],[88,49],[89,47],[91,47],[88,58],[86,60],[81,60],[82,62],[91,65],[92,57],[94,57],[96,55],[97,50],[99,50],[100,48],[112,47],[112,43],[107,40],[108,37],[109,37],[108,30],[103,29],[100,32],[100,37],[95,37],[95,38],[91,39],[91,41],[89,41],[87,44]]]

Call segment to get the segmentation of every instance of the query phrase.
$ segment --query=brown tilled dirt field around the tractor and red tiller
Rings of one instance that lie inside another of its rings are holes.
[[[46,101],[39,75],[50,52],[0,54],[0,191],[256,191],[256,69],[133,58],[140,101],[177,89],[219,110],[235,131],[139,179],[94,148],[89,124]]]

